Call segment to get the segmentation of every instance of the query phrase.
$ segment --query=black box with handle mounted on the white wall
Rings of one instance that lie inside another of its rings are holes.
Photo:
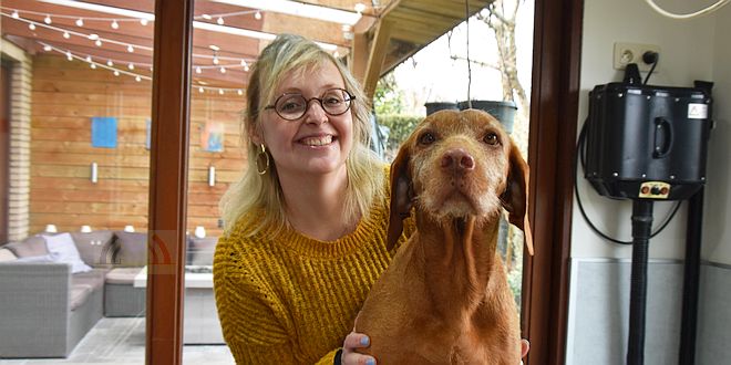
[[[681,200],[706,182],[710,90],[630,83],[589,93],[585,177],[603,196]]]

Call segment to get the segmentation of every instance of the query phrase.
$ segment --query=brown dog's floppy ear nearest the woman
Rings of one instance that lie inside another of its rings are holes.
[[[389,213],[389,233],[385,241],[385,247],[389,251],[397,243],[399,237],[401,237],[403,220],[409,217],[411,211],[410,159],[409,142],[405,142],[391,164],[391,208]]]

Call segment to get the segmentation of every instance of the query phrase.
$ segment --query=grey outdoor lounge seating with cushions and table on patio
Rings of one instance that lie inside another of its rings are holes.
[[[187,239],[187,263],[198,283],[186,294],[186,313],[193,313],[186,314],[186,343],[223,344],[207,269],[216,240]],[[147,252],[147,233],[110,230],[38,234],[2,246],[0,358],[66,357],[101,319],[144,317]]]

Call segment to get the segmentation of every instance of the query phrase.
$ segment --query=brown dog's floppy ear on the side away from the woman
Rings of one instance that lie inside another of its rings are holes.
[[[501,196],[508,220],[525,233],[525,244],[533,255],[533,233],[528,221],[528,165],[515,144],[511,146],[509,168],[505,192]]]

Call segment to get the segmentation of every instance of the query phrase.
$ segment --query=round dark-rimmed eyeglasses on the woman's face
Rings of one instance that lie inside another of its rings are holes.
[[[344,114],[350,108],[350,102],[356,96],[350,95],[343,88],[330,88],[322,93],[320,97],[305,98],[299,93],[281,94],[275,101],[274,105],[267,105],[265,109],[275,109],[277,115],[286,121],[297,121],[301,118],[310,106],[311,101],[318,101],[320,106],[328,115],[337,116]]]

